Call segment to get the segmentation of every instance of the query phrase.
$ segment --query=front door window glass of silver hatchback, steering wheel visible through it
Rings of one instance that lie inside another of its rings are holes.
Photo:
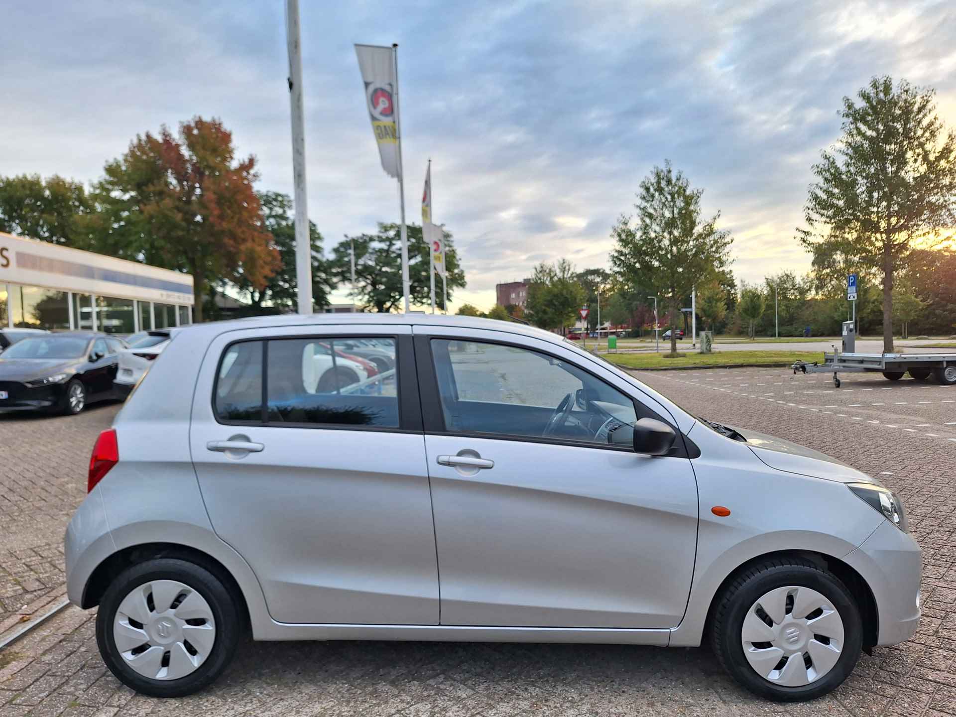
[[[639,418],[628,396],[564,359],[438,338],[432,339],[432,353],[451,432],[607,445],[618,443],[615,431]]]

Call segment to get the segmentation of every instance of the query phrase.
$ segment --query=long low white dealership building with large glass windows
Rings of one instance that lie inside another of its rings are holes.
[[[192,276],[0,232],[0,328],[134,334],[192,322]]]

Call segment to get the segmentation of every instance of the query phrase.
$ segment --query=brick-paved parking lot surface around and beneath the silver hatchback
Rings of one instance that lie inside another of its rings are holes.
[[[864,655],[833,695],[796,706],[750,697],[706,649],[399,642],[246,642],[218,684],[159,701],[134,695],[106,672],[92,613],[70,608],[0,652],[0,715],[956,714],[956,441],[949,440],[956,423],[946,425],[956,422],[956,403],[949,403],[956,389],[848,377],[836,392],[820,378],[792,379],[778,369],[640,376],[693,413],[831,453],[898,490],[924,551],[924,617],[914,639]],[[76,430],[99,420],[80,417]],[[73,428],[57,435],[69,442]],[[92,436],[98,429],[88,430]],[[20,429],[0,424],[0,432],[8,430]],[[23,435],[39,430],[24,428]],[[62,449],[64,470],[78,480],[32,478],[50,472],[45,451],[14,449],[0,470],[19,462],[19,481],[49,490],[51,505],[61,493],[59,510],[68,511],[69,498],[82,495],[89,445],[92,438],[79,464]],[[42,485],[47,480],[53,488]],[[57,525],[44,544],[55,545],[61,533]]]

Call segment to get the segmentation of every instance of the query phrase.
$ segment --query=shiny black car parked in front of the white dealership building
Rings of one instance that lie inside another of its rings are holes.
[[[126,348],[119,338],[71,331],[24,338],[0,355],[0,412],[79,413],[87,403],[119,399],[113,388]]]

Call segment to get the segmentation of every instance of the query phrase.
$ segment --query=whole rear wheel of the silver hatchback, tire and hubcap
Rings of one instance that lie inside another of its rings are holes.
[[[216,576],[158,558],[126,569],[106,590],[97,643],[121,683],[151,697],[182,697],[226,669],[239,624],[235,601]]]

